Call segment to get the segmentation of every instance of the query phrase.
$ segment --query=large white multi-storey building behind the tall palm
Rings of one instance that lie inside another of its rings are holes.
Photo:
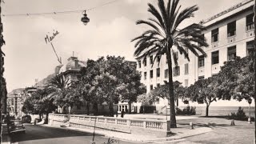
[[[200,78],[214,76],[224,62],[235,56],[245,57],[251,54],[254,48],[253,6],[253,0],[246,0],[200,22],[206,26],[202,34],[209,44],[209,47],[203,48],[207,57],[196,57],[189,51],[189,62],[177,50],[175,54],[178,56],[178,66],[173,68],[174,81],[182,82],[183,86],[190,86]],[[168,82],[166,55],[162,55],[160,60],[157,58],[151,67],[154,57],[154,54],[151,55],[145,62],[143,58],[137,58],[138,70],[142,74],[141,82],[146,85],[147,92],[164,84],[164,81]],[[161,111],[166,105],[167,101],[160,99],[157,102],[157,110]]]

